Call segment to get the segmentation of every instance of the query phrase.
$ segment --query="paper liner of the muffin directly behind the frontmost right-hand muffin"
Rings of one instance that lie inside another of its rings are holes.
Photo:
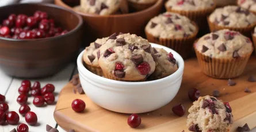
[[[233,28],[233,27],[219,26],[214,22],[211,22],[209,20],[209,17],[207,17],[207,21],[208,21],[211,32],[215,32],[216,30],[221,30],[221,29],[230,29],[230,30],[235,30],[237,32],[240,32],[241,34],[249,38],[251,38],[251,31],[253,31],[254,27],[256,26],[256,22],[255,22],[254,24],[251,24],[250,26],[247,26],[245,28]]]

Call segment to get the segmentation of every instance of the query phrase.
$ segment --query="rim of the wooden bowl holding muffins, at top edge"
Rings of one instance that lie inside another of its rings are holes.
[[[72,9],[72,7],[68,6],[66,3],[64,3],[62,0],[55,0],[55,4],[56,1],[58,1],[59,3],[62,3],[62,5],[66,6],[68,9],[74,10]],[[143,15],[145,13],[147,13],[150,10],[155,9],[156,7],[158,7],[159,5],[161,5],[163,3],[163,0],[158,0],[155,2],[154,5],[148,7],[147,9],[141,10],[141,11],[136,11],[135,13],[128,13],[128,14],[110,14],[110,15],[97,15],[97,14],[89,14],[89,13],[82,13],[80,11],[75,11],[77,14],[82,15],[82,16],[86,16],[86,17],[95,17],[95,18],[109,18],[109,17],[113,17],[113,18],[117,18],[117,17],[131,17],[134,15]]]

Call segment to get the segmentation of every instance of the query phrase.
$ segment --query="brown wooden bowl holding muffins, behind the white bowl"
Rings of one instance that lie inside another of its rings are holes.
[[[62,0],[55,0],[55,4],[72,9],[71,6],[66,5]],[[144,28],[147,22],[158,15],[161,12],[162,7],[163,0],[158,0],[158,2],[148,9],[129,14],[102,16],[85,14],[78,11],[77,13],[82,15],[85,22],[86,45],[89,45],[90,42],[95,41],[97,38],[107,37],[115,32],[134,33],[138,36],[145,37]]]

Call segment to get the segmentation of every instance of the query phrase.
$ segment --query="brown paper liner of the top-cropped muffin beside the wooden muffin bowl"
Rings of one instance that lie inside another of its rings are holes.
[[[201,31],[208,32],[208,24],[207,24],[207,19],[206,18],[209,14],[211,14],[215,10],[216,3],[211,8],[202,9],[202,10],[189,10],[189,11],[174,10],[174,9],[171,9],[170,7],[167,7],[166,5],[165,5],[165,8],[166,8],[167,11],[170,11],[170,12],[173,12],[173,13],[178,13],[178,14],[181,14],[181,15],[185,15],[190,20],[196,22],[199,29],[200,29],[200,32]]]

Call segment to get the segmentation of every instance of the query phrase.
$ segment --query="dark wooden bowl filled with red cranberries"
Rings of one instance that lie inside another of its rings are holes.
[[[0,67],[10,76],[37,78],[54,75],[78,55],[82,40],[82,17],[51,4],[25,3],[0,7],[0,21],[9,14],[33,15],[45,11],[69,32],[63,36],[35,40],[0,37]]]

